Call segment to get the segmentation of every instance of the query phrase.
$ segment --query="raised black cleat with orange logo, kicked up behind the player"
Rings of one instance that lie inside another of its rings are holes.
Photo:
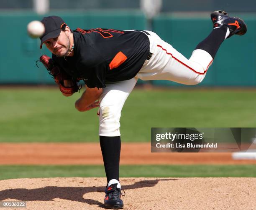
[[[244,21],[240,18],[229,17],[228,13],[225,11],[214,11],[211,13],[211,19],[213,23],[213,28],[220,28],[221,26],[227,26],[230,34],[227,38],[232,35],[244,35],[247,31],[247,26]]]

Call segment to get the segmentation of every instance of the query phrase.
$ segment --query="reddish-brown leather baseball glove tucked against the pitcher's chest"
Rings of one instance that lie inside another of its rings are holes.
[[[38,61],[42,62],[49,71],[49,74],[53,76],[54,81],[59,85],[59,90],[61,92],[70,95],[81,89],[78,80],[73,80],[72,77],[61,69],[61,67],[56,65],[54,60],[52,60],[49,56],[41,55],[39,59],[40,60]],[[69,84],[69,86],[67,87],[64,84]]]

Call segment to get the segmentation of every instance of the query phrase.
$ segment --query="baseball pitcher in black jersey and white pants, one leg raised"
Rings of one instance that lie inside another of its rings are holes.
[[[189,59],[145,30],[95,28],[71,30],[60,17],[41,20],[45,26],[41,45],[52,52],[52,59],[40,57],[54,76],[61,92],[70,96],[83,80],[86,90],[75,102],[79,111],[99,107],[99,136],[107,187],[105,208],[123,208],[119,183],[120,116],[128,95],[138,79],[170,80],[196,85],[206,72],[221,45],[233,35],[244,35],[246,24],[224,11],[211,14],[213,30],[200,42]]]

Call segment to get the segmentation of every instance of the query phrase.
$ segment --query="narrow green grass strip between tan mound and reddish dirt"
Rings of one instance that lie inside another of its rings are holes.
[[[0,166],[0,180],[41,177],[105,177],[105,170],[101,165]],[[256,166],[121,165],[120,177],[256,177]]]

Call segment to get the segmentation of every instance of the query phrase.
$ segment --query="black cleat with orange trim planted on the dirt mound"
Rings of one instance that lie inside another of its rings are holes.
[[[123,191],[124,192],[124,191]],[[117,184],[112,184],[105,189],[104,207],[108,209],[122,209],[123,200],[121,200],[121,189],[117,188]]]

